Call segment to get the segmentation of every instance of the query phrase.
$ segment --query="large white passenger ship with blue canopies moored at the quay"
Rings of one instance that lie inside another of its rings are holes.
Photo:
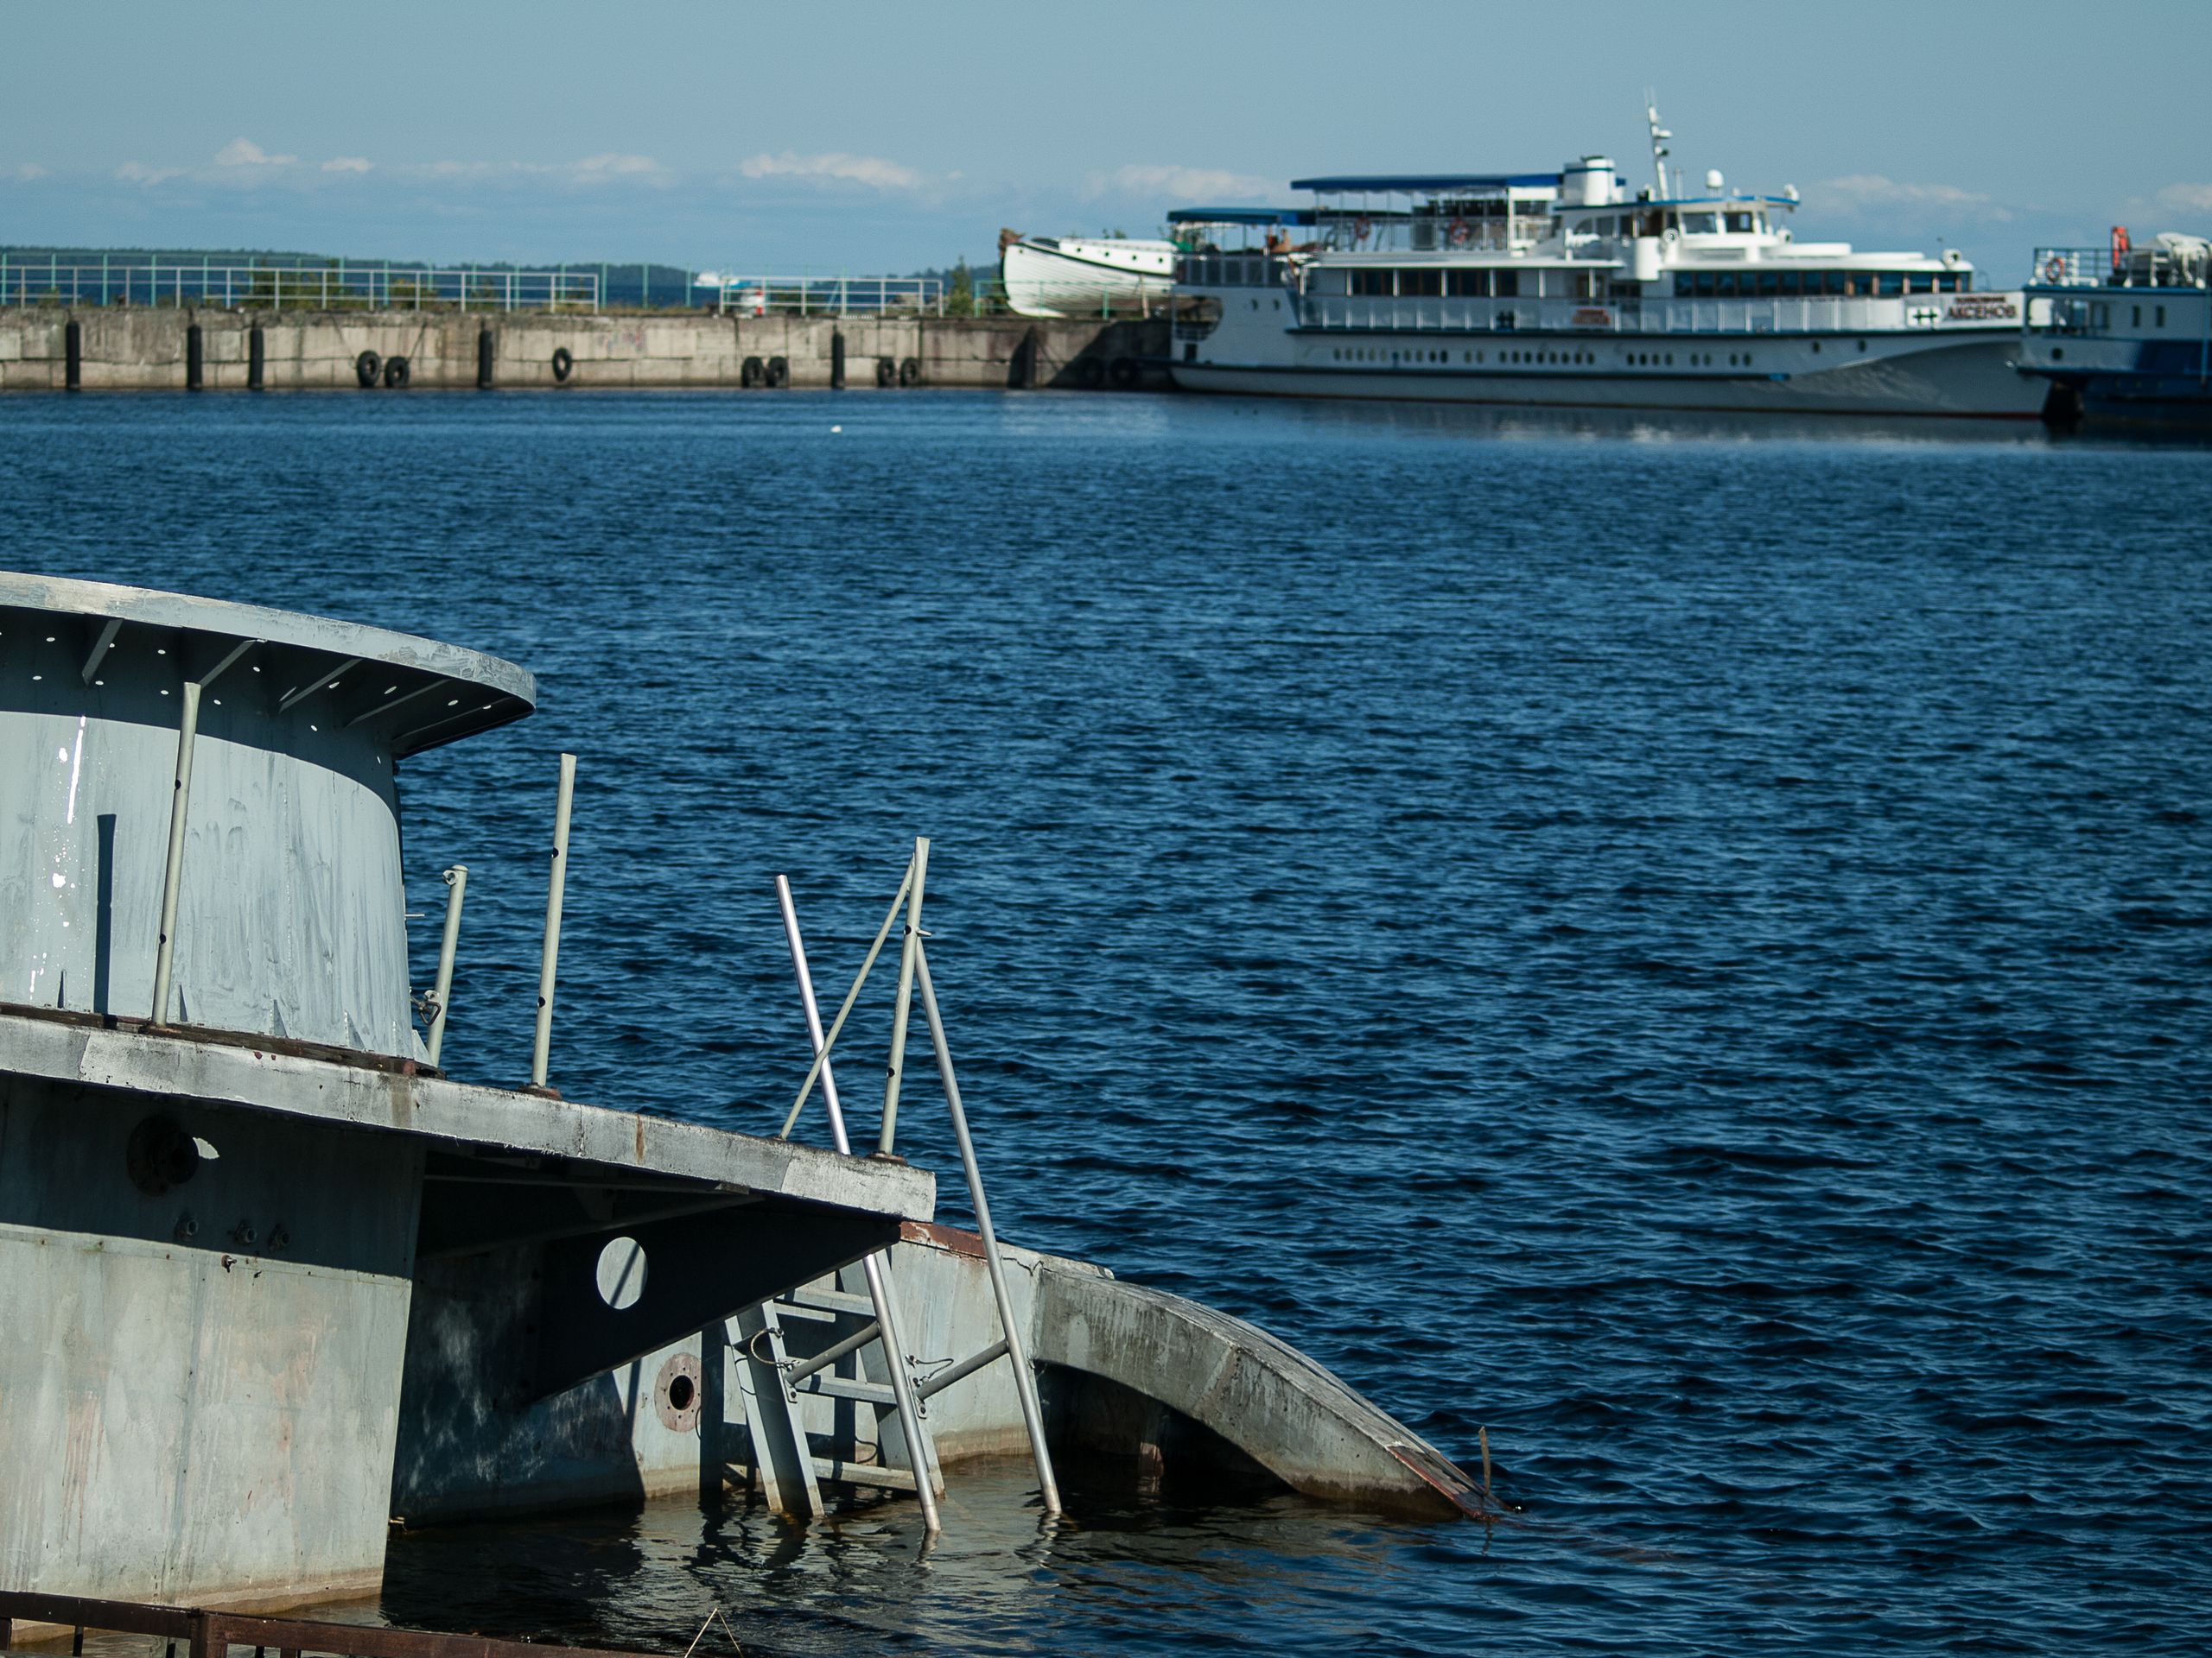
[[[1955,250],[1796,241],[1798,206],[1613,161],[1301,179],[1305,210],[1186,208],[1170,367],[1194,391],[2031,418],[2022,296]]]

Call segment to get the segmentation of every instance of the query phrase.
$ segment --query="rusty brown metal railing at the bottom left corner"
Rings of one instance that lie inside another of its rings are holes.
[[[310,1618],[259,1618],[246,1612],[161,1607],[139,1601],[86,1601],[73,1594],[27,1594],[0,1589],[0,1651],[13,1643],[13,1623],[51,1625],[75,1634],[73,1651],[84,1651],[84,1631],[153,1636],[168,1640],[166,1658],[228,1658],[232,1647],[254,1654],[327,1654],[330,1658],[639,1658],[597,1647],[549,1647],[535,1640],[487,1640],[484,1636],[431,1629],[385,1629],[361,1623]]]

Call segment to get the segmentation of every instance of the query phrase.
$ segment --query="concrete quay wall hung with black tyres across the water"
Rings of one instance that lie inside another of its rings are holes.
[[[0,391],[69,387],[69,329],[77,329],[77,385],[86,391],[188,389],[190,329],[199,329],[199,385],[243,391],[261,334],[268,391],[361,389],[356,363],[374,351],[407,360],[407,387],[476,387],[482,336],[500,389],[741,387],[783,360],[792,387],[830,387],[838,345],[845,385],[1115,387],[1166,385],[1164,321],[1022,316],[560,316],[535,312],[221,312],[0,307]],[[568,376],[555,371],[568,354]],[[1119,374],[1117,374],[1119,369]],[[396,387],[378,385],[394,396]]]

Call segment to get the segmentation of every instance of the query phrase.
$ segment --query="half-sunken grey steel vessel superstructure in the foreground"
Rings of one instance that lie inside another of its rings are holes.
[[[526,714],[520,668],[0,573],[0,1592],[363,1594],[394,1517],[732,1463],[812,1514],[818,1486],[936,1490],[938,1459],[1029,1446],[1051,1494],[1042,1417],[1139,1463],[1228,1441],[1318,1497],[1486,1512],[1261,1331],[931,1227],[922,1169],[440,1074],[394,769]],[[958,1110],[918,933],[905,955]],[[546,1004],[551,977],[546,948]],[[754,1081],[781,1108],[790,1079]],[[964,1130],[962,1154],[973,1189]],[[927,1353],[973,1357],[900,1402],[885,1366]]]

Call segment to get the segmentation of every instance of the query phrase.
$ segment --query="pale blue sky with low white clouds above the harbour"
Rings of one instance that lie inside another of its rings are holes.
[[[1798,234],[2212,230],[2212,2],[11,9],[0,243],[914,270],[1310,172],[1694,175]]]

